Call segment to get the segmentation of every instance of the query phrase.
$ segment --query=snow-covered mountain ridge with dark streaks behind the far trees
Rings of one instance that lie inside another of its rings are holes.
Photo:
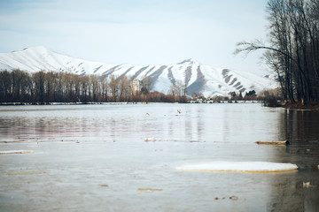
[[[178,64],[129,65],[105,64],[69,57],[44,47],[33,47],[0,54],[0,70],[20,69],[26,72],[54,71],[72,72],[79,75],[96,74],[106,76],[127,75],[134,79],[152,79],[152,91],[168,94],[173,84],[187,87],[188,95],[205,96],[228,95],[230,92],[257,93],[263,89],[278,87],[273,79],[261,77],[251,72],[235,72],[214,68],[187,59]]]

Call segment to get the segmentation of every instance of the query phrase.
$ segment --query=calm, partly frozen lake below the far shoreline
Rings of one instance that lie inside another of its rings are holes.
[[[290,140],[291,145],[257,145]],[[319,211],[319,112],[260,103],[0,107],[0,211]],[[289,173],[184,163],[294,163]]]

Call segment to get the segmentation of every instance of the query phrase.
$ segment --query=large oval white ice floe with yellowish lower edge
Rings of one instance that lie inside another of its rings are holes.
[[[215,161],[208,163],[189,163],[177,167],[182,171],[217,171],[217,172],[283,172],[297,170],[298,167],[292,163],[270,163],[270,162],[224,162]]]

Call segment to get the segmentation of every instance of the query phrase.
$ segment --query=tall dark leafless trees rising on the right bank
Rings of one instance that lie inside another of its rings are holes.
[[[269,0],[269,45],[240,42],[238,52],[266,49],[264,58],[276,72],[284,99],[319,100],[319,1]]]

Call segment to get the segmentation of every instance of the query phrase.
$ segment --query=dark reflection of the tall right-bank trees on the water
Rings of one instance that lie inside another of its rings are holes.
[[[281,114],[281,136],[291,141],[285,154],[300,170],[293,176],[275,178],[274,195],[269,205],[274,211],[319,210],[319,112],[285,110]]]

